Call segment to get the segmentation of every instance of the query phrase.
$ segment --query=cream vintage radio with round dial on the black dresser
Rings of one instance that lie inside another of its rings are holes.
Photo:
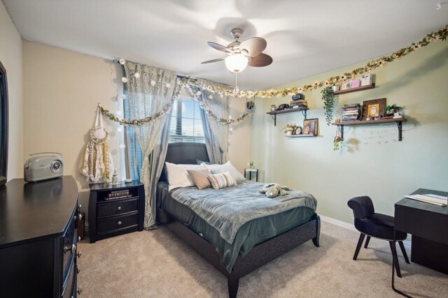
[[[24,165],[24,179],[27,182],[62,177],[64,165],[62,154],[56,152],[41,152],[28,154]]]

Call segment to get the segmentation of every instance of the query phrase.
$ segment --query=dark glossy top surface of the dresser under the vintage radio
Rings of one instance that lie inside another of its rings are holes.
[[[0,189],[0,247],[60,234],[78,200],[71,176],[27,183],[13,179]]]

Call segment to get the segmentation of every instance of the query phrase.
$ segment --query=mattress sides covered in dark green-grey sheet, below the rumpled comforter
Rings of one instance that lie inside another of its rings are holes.
[[[238,256],[244,257],[253,246],[316,218],[316,212],[309,207],[297,207],[279,214],[256,218],[244,223],[239,228],[233,243],[229,244],[220,236],[218,230],[195,214],[193,210],[174,200],[171,193],[172,191],[168,191],[166,182],[159,182],[158,207],[209,241],[221,255],[221,263],[229,272],[232,271]]]

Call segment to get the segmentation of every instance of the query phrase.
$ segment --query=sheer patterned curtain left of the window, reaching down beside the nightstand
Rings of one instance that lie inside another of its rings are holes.
[[[151,117],[172,103],[177,79],[175,73],[131,62],[126,62],[124,67],[127,77],[128,109],[126,115],[129,117],[128,119]],[[136,73],[139,75],[136,75]],[[145,186],[145,229],[155,226],[156,208],[153,193],[156,183],[154,181],[158,179],[156,177],[158,170],[155,169],[158,161],[155,158],[150,159],[150,154],[155,148],[155,144],[160,140],[160,133],[166,121],[167,114],[163,114],[149,124],[133,127],[134,137],[141,149],[142,161],[139,177],[141,183]]]

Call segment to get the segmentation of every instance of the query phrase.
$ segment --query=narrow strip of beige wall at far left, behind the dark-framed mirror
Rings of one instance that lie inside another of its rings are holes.
[[[0,61],[6,68],[9,98],[8,180],[23,177],[22,38],[0,3]]]

